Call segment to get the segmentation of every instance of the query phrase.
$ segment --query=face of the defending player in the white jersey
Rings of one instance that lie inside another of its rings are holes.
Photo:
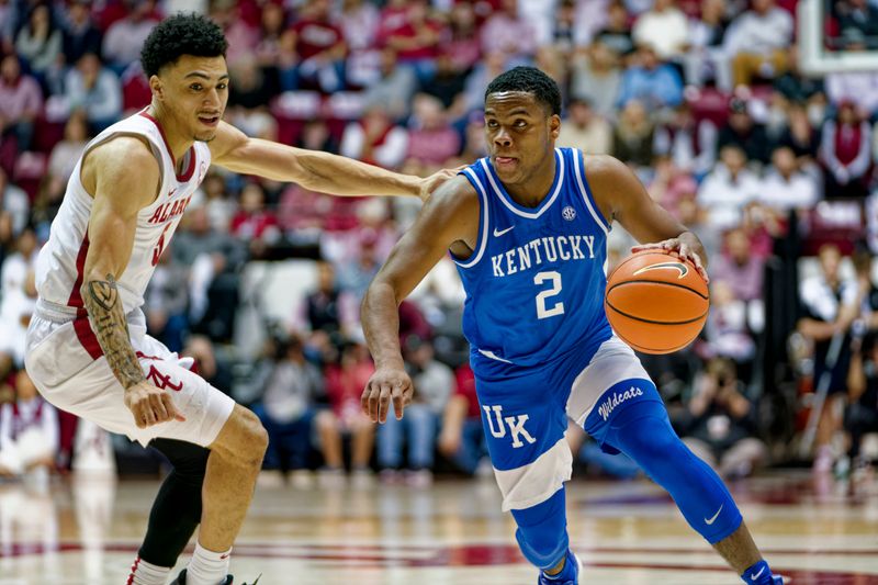
[[[170,114],[177,132],[209,142],[216,135],[228,101],[228,68],[224,57],[183,55],[158,77],[154,94]]]

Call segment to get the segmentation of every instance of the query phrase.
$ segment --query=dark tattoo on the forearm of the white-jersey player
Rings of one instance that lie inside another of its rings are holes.
[[[131,346],[128,324],[113,274],[106,274],[105,281],[89,280],[83,289],[82,301],[91,328],[116,379],[125,389],[143,382],[144,372]]]

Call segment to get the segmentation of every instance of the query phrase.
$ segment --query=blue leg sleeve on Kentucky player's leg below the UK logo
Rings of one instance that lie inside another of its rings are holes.
[[[518,525],[515,537],[521,553],[539,569],[555,566],[567,553],[567,515],[564,488],[533,507],[511,510]]]

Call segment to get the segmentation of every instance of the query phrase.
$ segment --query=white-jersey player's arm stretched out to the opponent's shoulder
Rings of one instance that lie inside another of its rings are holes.
[[[225,122],[219,123],[216,138],[209,145],[213,161],[228,170],[291,181],[331,195],[409,195],[426,200],[457,173],[455,169],[441,170],[425,179],[399,175],[329,153],[250,138]]]

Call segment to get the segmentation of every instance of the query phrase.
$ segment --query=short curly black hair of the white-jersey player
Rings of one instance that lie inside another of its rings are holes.
[[[225,57],[227,48],[228,42],[219,25],[200,14],[181,12],[153,29],[140,50],[140,64],[149,78],[183,55]]]

